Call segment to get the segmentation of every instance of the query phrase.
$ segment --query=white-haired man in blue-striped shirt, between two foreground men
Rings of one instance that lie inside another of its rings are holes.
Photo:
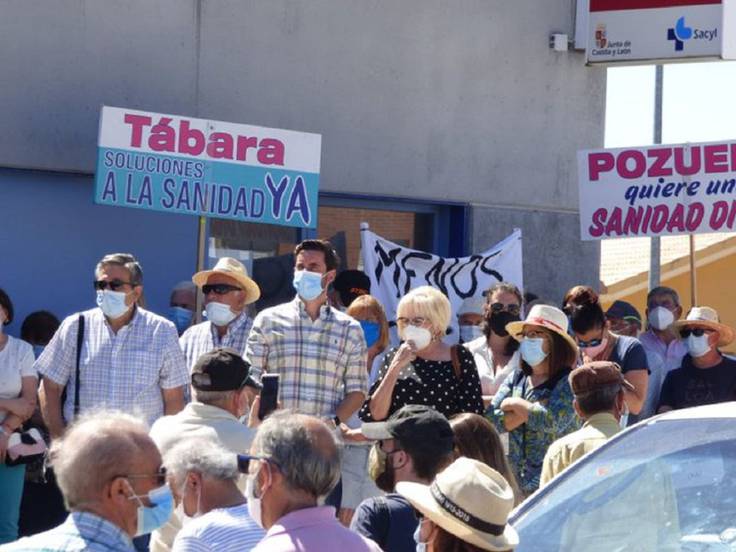
[[[248,552],[265,531],[253,521],[237,486],[237,456],[217,441],[192,438],[164,456],[184,527],[174,552]]]

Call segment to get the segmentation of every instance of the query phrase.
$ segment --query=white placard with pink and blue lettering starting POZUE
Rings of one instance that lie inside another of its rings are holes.
[[[736,142],[578,153],[584,240],[736,231]]]

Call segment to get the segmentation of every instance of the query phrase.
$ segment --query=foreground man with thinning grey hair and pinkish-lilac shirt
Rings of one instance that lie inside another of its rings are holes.
[[[254,552],[380,552],[343,527],[332,506],[318,505],[340,478],[340,448],[327,424],[277,411],[258,429],[251,454],[245,495],[251,516],[268,530]]]

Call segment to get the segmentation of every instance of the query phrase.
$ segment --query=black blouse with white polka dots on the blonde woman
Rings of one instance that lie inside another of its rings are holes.
[[[402,368],[391,396],[391,416],[407,404],[425,404],[449,418],[461,412],[483,414],[480,378],[473,355],[465,347],[458,347],[460,378],[455,375],[452,361],[425,360],[417,357]],[[386,355],[378,379],[371,386],[368,400],[363,403],[359,417],[364,422],[375,421],[370,412],[370,397],[383,381],[396,354],[392,349]]]

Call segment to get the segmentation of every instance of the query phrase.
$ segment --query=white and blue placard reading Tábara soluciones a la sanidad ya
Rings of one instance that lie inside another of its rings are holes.
[[[95,203],[316,228],[322,138],[103,107]]]

